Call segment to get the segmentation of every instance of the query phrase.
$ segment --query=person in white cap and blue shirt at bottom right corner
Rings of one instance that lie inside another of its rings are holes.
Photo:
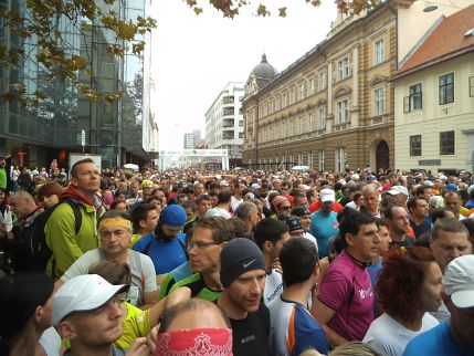
[[[443,301],[451,318],[413,338],[403,356],[474,355],[474,255],[451,261],[444,276]]]

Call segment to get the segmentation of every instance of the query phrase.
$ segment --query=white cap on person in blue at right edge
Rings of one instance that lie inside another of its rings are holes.
[[[447,264],[443,276],[444,292],[457,307],[474,306],[474,255],[459,256]]]

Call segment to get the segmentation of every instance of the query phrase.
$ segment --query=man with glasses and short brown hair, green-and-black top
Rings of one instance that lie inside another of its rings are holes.
[[[177,282],[170,293],[187,286],[191,290],[191,297],[215,301],[222,292],[220,255],[230,238],[229,222],[224,218],[198,220],[191,241],[187,244],[189,265],[194,274]]]

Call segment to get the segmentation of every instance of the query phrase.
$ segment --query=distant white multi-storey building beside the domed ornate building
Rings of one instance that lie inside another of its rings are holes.
[[[231,167],[242,165],[244,93],[245,83],[228,83],[206,113],[206,144],[210,149],[228,149]]]

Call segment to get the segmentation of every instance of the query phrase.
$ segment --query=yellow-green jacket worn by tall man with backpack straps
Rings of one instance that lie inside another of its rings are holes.
[[[53,211],[44,227],[46,244],[52,255],[45,273],[57,280],[83,253],[97,249],[99,238],[97,220],[105,212],[104,207],[96,210],[93,206],[77,201],[82,216],[81,229],[75,234],[73,209],[61,203]],[[53,271],[54,264],[54,271]]]

